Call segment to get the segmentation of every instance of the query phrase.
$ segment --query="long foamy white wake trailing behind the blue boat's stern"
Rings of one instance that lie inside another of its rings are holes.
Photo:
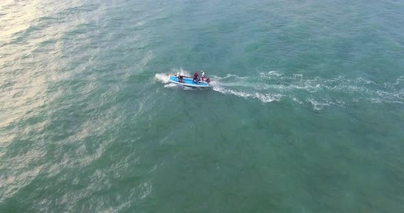
[[[368,79],[337,76],[326,79],[303,74],[286,76],[279,72],[263,72],[259,76],[212,76],[214,91],[242,98],[255,98],[264,103],[291,101],[311,105],[320,110],[329,106],[344,108],[356,102],[404,103],[404,76],[393,82],[376,83]]]

